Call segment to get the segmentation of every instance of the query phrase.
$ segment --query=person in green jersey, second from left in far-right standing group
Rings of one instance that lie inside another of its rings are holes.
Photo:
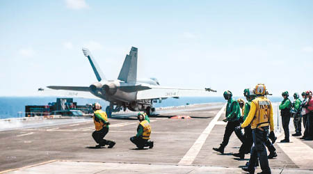
[[[295,129],[295,134],[292,134],[292,136],[301,136],[301,116],[300,116],[300,105],[301,105],[301,100],[299,99],[299,94],[294,93],[294,102],[292,103],[292,108],[291,108],[291,114],[292,118],[294,118],[294,129]]]

